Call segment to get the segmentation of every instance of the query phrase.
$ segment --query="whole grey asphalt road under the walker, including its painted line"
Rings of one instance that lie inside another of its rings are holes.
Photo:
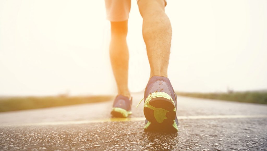
[[[179,132],[144,132],[102,103],[0,113],[0,150],[267,150],[267,105],[178,97]]]

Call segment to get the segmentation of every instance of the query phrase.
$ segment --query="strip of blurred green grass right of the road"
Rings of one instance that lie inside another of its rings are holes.
[[[267,92],[231,92],[231,93],[186,93],[176,92],[179,96],[227,100],[247,103],[267,104]]]

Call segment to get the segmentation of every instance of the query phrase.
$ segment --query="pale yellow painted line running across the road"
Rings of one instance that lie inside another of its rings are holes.
[[[220,118],[267,118],[267,115],[207,115],[207,116],[177,116],[178,120],[190,119],[220,119]],[[31,125],[69,125],[69,124],[88,124],[88,123],[101,123],[101,122],[127,122],[127,121],[144,121],[144,117],[132,118],[106,118],[99,120],[82,120],[82,121],[52,121],[41,122],[32,124],[0,124],[0,126],[31,126]]]

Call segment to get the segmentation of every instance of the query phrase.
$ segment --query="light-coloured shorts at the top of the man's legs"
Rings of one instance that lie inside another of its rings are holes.
[[[139,0],[136,0],[137,2]],[[167,5],[166,0],[165,6]],[[105,0],[107,19],[111,22],[126,21],[131,10],[131,0]]]

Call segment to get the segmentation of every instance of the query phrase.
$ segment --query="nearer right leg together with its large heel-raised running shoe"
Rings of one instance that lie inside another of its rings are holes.
[[[177,99],[167,69],[171,47],[171,23],[164,0],[139,0],[143,38],[150,63],[150,80],[144,92],[145,130],[178,131]]]

